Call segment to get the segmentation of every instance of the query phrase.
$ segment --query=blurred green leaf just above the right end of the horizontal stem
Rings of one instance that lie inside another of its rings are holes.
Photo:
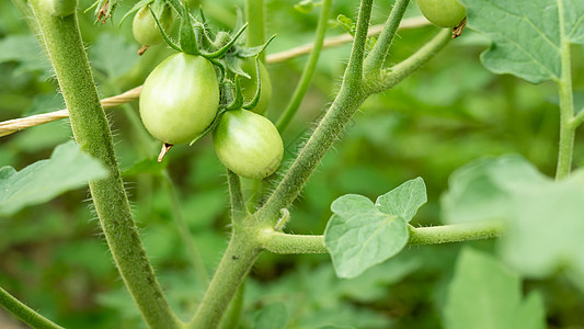
[[[511,195],[517,189],[548,179],[516,155],[486,158],[456,170],[442,198],[442,218],[447,224],[507,218]]]

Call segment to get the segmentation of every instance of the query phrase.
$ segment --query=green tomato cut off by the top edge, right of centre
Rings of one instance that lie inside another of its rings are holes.
[[[440,27],[458,26],[467,15],[457,0],[417,0],[417,7],[432,24]]]

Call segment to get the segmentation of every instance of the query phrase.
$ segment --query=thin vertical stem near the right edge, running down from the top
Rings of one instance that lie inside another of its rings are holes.
[[[574,120],[574,100],[572,91],[572,70],[570,67],[570,39],[566,36],[565,24],[563,22],[564,8],[562,1],[558,1],[558,11],[560,15],[560,61],[562,77],[559,81],[556,81],[560,94],[560,145],[558,150],[556,179],[560,180],[568,177],[572,169],[575,126],[572,124]]]

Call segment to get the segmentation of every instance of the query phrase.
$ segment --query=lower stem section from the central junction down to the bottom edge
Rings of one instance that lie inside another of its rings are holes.
[[[224,258],[188,328],[217,328],[229,302],[261,253],[255,240],[255,231],[240,231],[234,227]]]

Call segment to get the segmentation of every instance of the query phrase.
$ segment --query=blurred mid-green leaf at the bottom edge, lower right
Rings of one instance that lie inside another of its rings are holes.
[[[444,309],[449,329],[543,329],[541,295],[522,299],[519,276],[472,249],[460,253]]]

